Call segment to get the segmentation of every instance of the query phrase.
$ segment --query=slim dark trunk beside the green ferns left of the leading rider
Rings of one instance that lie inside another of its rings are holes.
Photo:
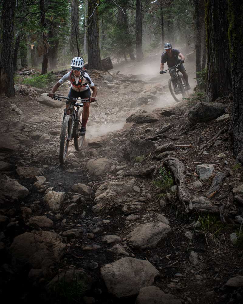
[[[47,68],[48,68],[48,40],[46,37],[45,30],[47,28],[46,26],[46,6],[45,6],[45,0],[40,0],[40,22],[42,26],[42,40],[43,40],[43,61],[42,61],[42,69],[41,69],[41,74],[46,74],[47,73]]]

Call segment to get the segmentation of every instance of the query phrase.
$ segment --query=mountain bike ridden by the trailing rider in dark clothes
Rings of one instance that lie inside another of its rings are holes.
[[[169,71],[169,91],[176,102],[181,101],[178,97],[176,97],[176,95],[182,94],[182,98],[187,98],[187,96],[189,95],[188,91],[186,90],[186,81],[183,75],[179,75],[180,71],[176,70],[179,65],[180,63],[176,64],[173,67],[169,67],[168,70],[165,70],[163,73],[160,72],[160,74],[164,74]]]

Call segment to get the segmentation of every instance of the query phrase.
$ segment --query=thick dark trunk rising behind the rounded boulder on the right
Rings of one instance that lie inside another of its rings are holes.
[[[213,101],[232,90],[228,46],[228,0],[206,0],[207,76],[206,99]]]

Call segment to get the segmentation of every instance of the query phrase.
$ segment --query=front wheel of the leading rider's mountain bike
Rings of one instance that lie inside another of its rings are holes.
[[[67,151],[69,146],[69,137],[71,132],[71,117],[66,115],[63,121],[63,126],[60,136],[60,151],[59,151],[59,161],[61,165],[65,164],[67,158]]]

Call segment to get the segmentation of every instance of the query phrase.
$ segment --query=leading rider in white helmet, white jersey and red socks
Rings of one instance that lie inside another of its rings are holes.
[[[84,60],[81,57],[74,57],[71,61],[72,70],[65,74],[57,83],[53,86],[51,92],[48,94],[49,97],[53,98],[56,90],[65,81],[69,80],[71,82],[71,88],[68,97],[89,99],[91,96],[90,88],[92,89],[91,101],[95,101],[97,95],[97,87],[92,82],[90,76],[85,72]],[[68,114],[69,101],[66,102],[65,112]],[[86,132],[86,124],[89,118],[89,102],[84,103],[84,112],[82,114],[82,126],[79,135],[83,136]]]

